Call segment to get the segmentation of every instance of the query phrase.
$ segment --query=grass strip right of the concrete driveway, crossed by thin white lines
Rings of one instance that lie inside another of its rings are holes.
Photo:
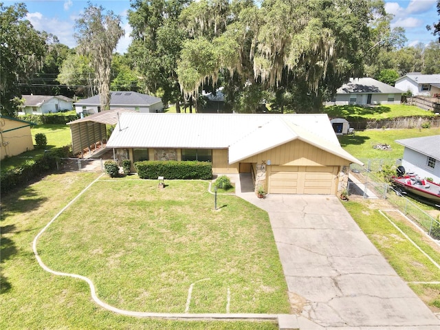
[[[404,281],[439,281],[440,270],[417,250],[378,210],[370,208],[369,201],[349,201],[344,203],[344,206]],[[386,212],[386,215],[428,256],[435,262],[440,263],[440,252],[434,243],[426,239],[421,232],[413,228],[397,212]],[[440,311],[440,285],[410,283],[410,287],[428,306],[435,311]]]

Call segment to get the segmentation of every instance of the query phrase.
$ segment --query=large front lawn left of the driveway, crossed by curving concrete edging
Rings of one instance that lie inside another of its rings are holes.
[[[50,175],[2,195],[0,329],[278,329],[275,322],[188,324],[119,316],[98,307],[83,281],[41,269],[32,253],[34,236],[96,177],[95,173]],[[227,287],[231,312],[289,312],[267,214],[230,196],[221,196],[221,209],[212,210],[213,197],[204,182],[170,181],[158,190],[155,181],[148,188],[150,181],[127,178],[98,182],[53,223],[38,243],[47,265],[90,276],[98,296],[118,307],[142,311],[155,305],[156,310],[181,312],[190,283],[211,278],[195,285],[190,312],[224,312]],[[170,201],[171,192],[181,195]],[[203,205],[195,203],[199,199]],[[115,207],[118,203],[120,208]],[[203,221],[174,214],[190,212],[193,205],[197,212],[203,210]],[[243,229],[230,234],[236,225]],[[152,235],[164,241],[156,245]],[[99,239],[109,241],[100,244]]]

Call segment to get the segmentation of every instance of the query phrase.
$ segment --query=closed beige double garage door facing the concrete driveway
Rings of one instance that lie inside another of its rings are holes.
[[[272,166],[269,192],[333,195],[336,175],[338,166]]]

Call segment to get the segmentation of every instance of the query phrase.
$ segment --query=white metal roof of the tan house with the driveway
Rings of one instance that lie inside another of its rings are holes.
[[[327,114],[123,113],[107,148],[229,148],[232,164],[296,138],[362,164]]]

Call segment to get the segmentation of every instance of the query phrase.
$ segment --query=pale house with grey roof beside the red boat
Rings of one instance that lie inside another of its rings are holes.
[[[396,140],[404,146],[401,164],[406,172],[414,172],[421,178],[432,177],[440,182],[440,135]]]

